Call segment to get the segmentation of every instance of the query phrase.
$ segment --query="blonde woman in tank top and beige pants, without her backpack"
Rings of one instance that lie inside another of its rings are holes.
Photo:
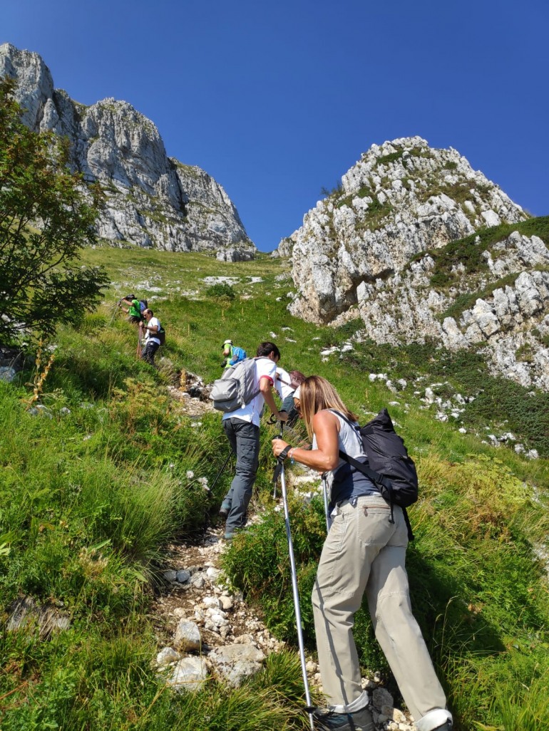
[[[374,731],[352,632],[366,592],[376,637],[418,731],[449,731],[452,715],[411,613],[403,510],[394,506],[391,522],[376,485],[340,458],[341,450],[367,464],[356,414],[335,388],[321,376],[309,376],[294,401],[313,449],[274,439],[273,452],[327,473],[333,519],[313,588],[318,662],[329,700],[325,711],[317,711],[318,723],[327,731]]]

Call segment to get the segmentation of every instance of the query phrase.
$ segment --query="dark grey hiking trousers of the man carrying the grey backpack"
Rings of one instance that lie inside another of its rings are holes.
[[[246,525],[247,508],[259,464],[259,427],[233,417],[223,420],[223,429],[236,456],[236,473],[223,499],[223,503],[231,506],[225,533],[232,533]]]

